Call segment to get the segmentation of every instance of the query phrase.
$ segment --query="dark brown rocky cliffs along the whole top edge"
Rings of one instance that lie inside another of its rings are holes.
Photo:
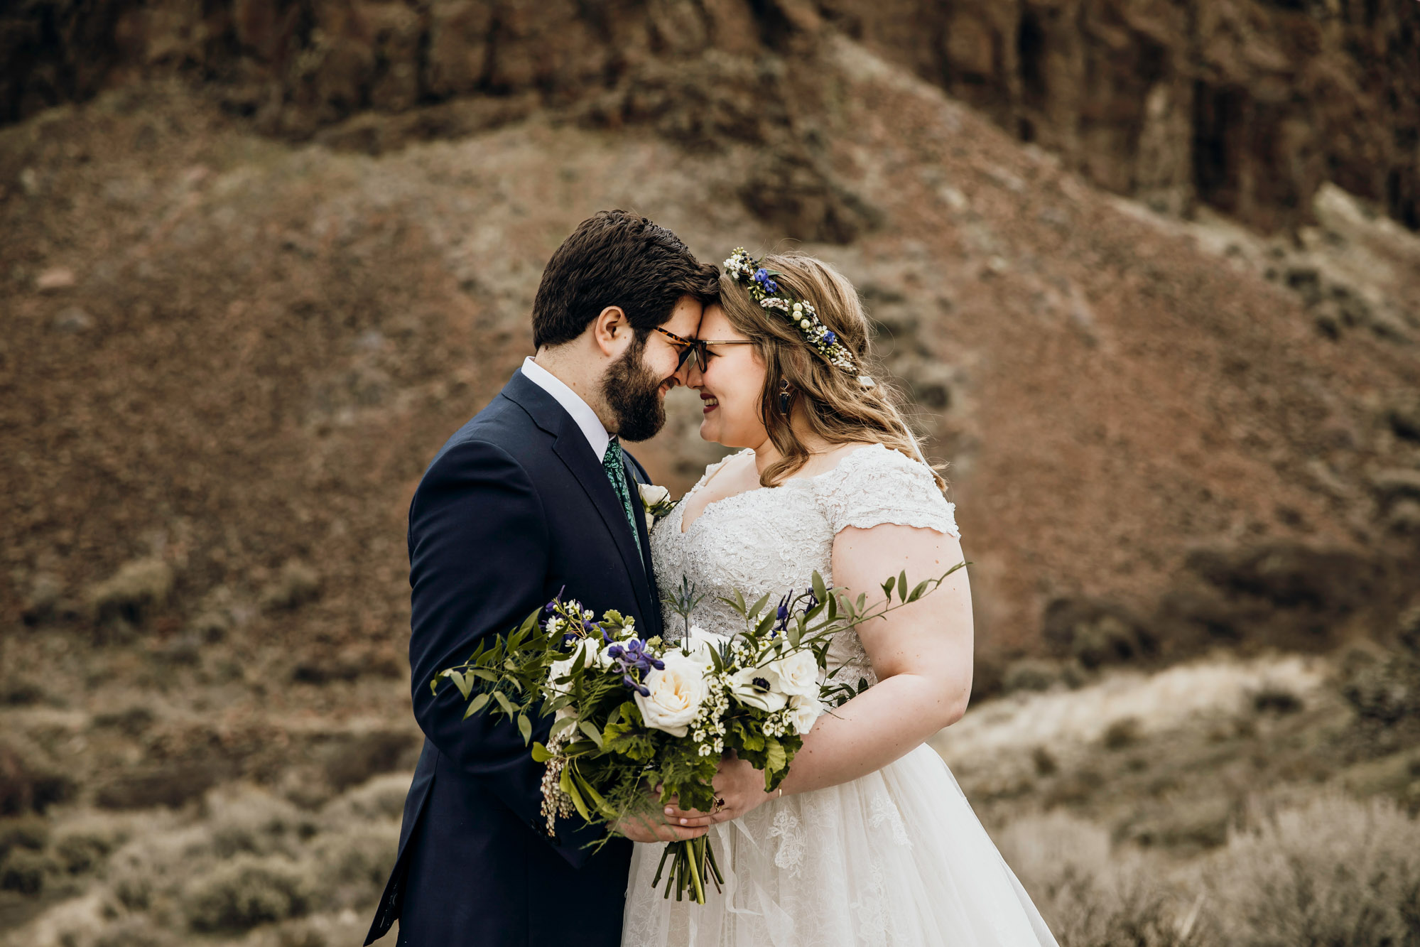
[[[28,0],[0,20],[0,116],[176,70],[266,132],[366,150],[537,109],[778,142],[764,173],[834,203],[785,135],[818,92],[785,77],[834,30],[1160,210],[1292,227],[1331,180],[1420,227],[1413,0]],[[787,212],[804,237],[858,217]]]

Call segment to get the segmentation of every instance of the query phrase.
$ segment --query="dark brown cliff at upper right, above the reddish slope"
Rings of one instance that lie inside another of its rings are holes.
[[[1159,210],[1272,230],[1332,180],[1420,227],[1414,3],[824,0],[829,18]]]

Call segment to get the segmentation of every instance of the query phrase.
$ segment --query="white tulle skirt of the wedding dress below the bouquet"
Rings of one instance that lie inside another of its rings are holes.
[[[704,906],[663,899],[650,886],[663,846],[636,845],[623,947],[1055,947],[927,745],[767,802],[710,841],[726,885]]]

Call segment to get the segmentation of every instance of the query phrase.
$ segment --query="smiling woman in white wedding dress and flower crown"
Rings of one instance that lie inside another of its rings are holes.
[[[961,561],[953,504],[885,386],[868,373],[853,287],[808,256],[726,261],[690,386],[700,436],[737,454],[711,464],[650,535],[662,601],[682,576],[706,598],[692,620],[738,628],[716,596],[777,599],[809,585],[869,598],[886,575],[937,576]],[[878,591],[880,596],[882,592]],[[666,628],[679,623],[666,615]],[[1055,944],[926,740],[971,690],[971,598],[960,569],[933,595],[841,632],[836,680],[866,683],[804,738],[784,784],[738,760],[716,777],[710,826],[726,877],[709,903],[652,886],[660,843],[638,843],[626,947],[995,947]]]

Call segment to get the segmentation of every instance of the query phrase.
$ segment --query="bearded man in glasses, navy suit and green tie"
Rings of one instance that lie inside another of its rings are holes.
[[[459,691],[429,681],[559,592],[660,633],[636,490],[646,474],[619,442],[665,425],[684,363],[666,332],[693,336],[716,294],[716,268],[665,227],[621,210],[584,220],[542,271],[537,356],[425,471],[409,508],[409,663],[426,738],[366,944],[395,919],[400,947],[619,944],[630,843],[592,853],[604,829],[572,821],[548,838],[542,767],[511,721],[463,720]]]

